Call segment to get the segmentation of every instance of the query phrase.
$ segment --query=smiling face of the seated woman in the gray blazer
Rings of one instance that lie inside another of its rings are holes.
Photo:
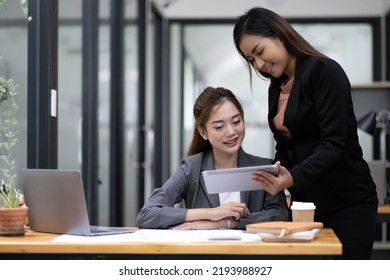
[[[215,106],[205,126],[205,129],[198,130],[204,139],[209,140],[214,155],[237,153],[245,137],[245,124],[232,102],[224,101]]]

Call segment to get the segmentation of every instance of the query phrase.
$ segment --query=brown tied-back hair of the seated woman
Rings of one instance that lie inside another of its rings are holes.
[[[225,101],[232,102],[241,114],[244,121],[244,110],[240,101],[230,90],[223,87],[207,87],[198,96],[195,101],[193,114],[195,118],[194,132],[187,155],[194,155],[196,153],[205,152],[212,149],[208,140],[204,140],[198,131],[198,127],[206,128],[210,114],[215,106],[219,106]]]

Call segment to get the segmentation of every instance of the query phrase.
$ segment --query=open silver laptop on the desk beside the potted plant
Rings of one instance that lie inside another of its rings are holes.
[[[30,229],[38,232],[97,236],[132,233],[134,229],[90,226],[78,170],[22,169]]]

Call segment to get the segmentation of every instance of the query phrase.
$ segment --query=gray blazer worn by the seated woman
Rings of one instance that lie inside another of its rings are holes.
[[[238,166],[272,164],[271,159],[260,158],[240,149]],[[161,188],[156,188],[138,213],[139,228],[169,228],[184,223],[188,209],[220,206],[218,194],[208,194],[201,172],[214,169],[212,151],[184,157],[175,173]],[[176,204],[184,202],[184,207]],[[250,215],[242,218],[238,228],[246,224],[265,221],[286,221],[289,218],[284,192],[270,195],[264,190],[241,192],[241,202],[249,208]]]

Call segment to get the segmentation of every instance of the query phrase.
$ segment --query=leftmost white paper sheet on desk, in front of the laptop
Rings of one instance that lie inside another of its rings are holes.
[[[80,236],[62,234],[54,239],[52,242],[57,243],[121,243],[128,242],[129,236],[132,233],[99,235],[99,236]]]

